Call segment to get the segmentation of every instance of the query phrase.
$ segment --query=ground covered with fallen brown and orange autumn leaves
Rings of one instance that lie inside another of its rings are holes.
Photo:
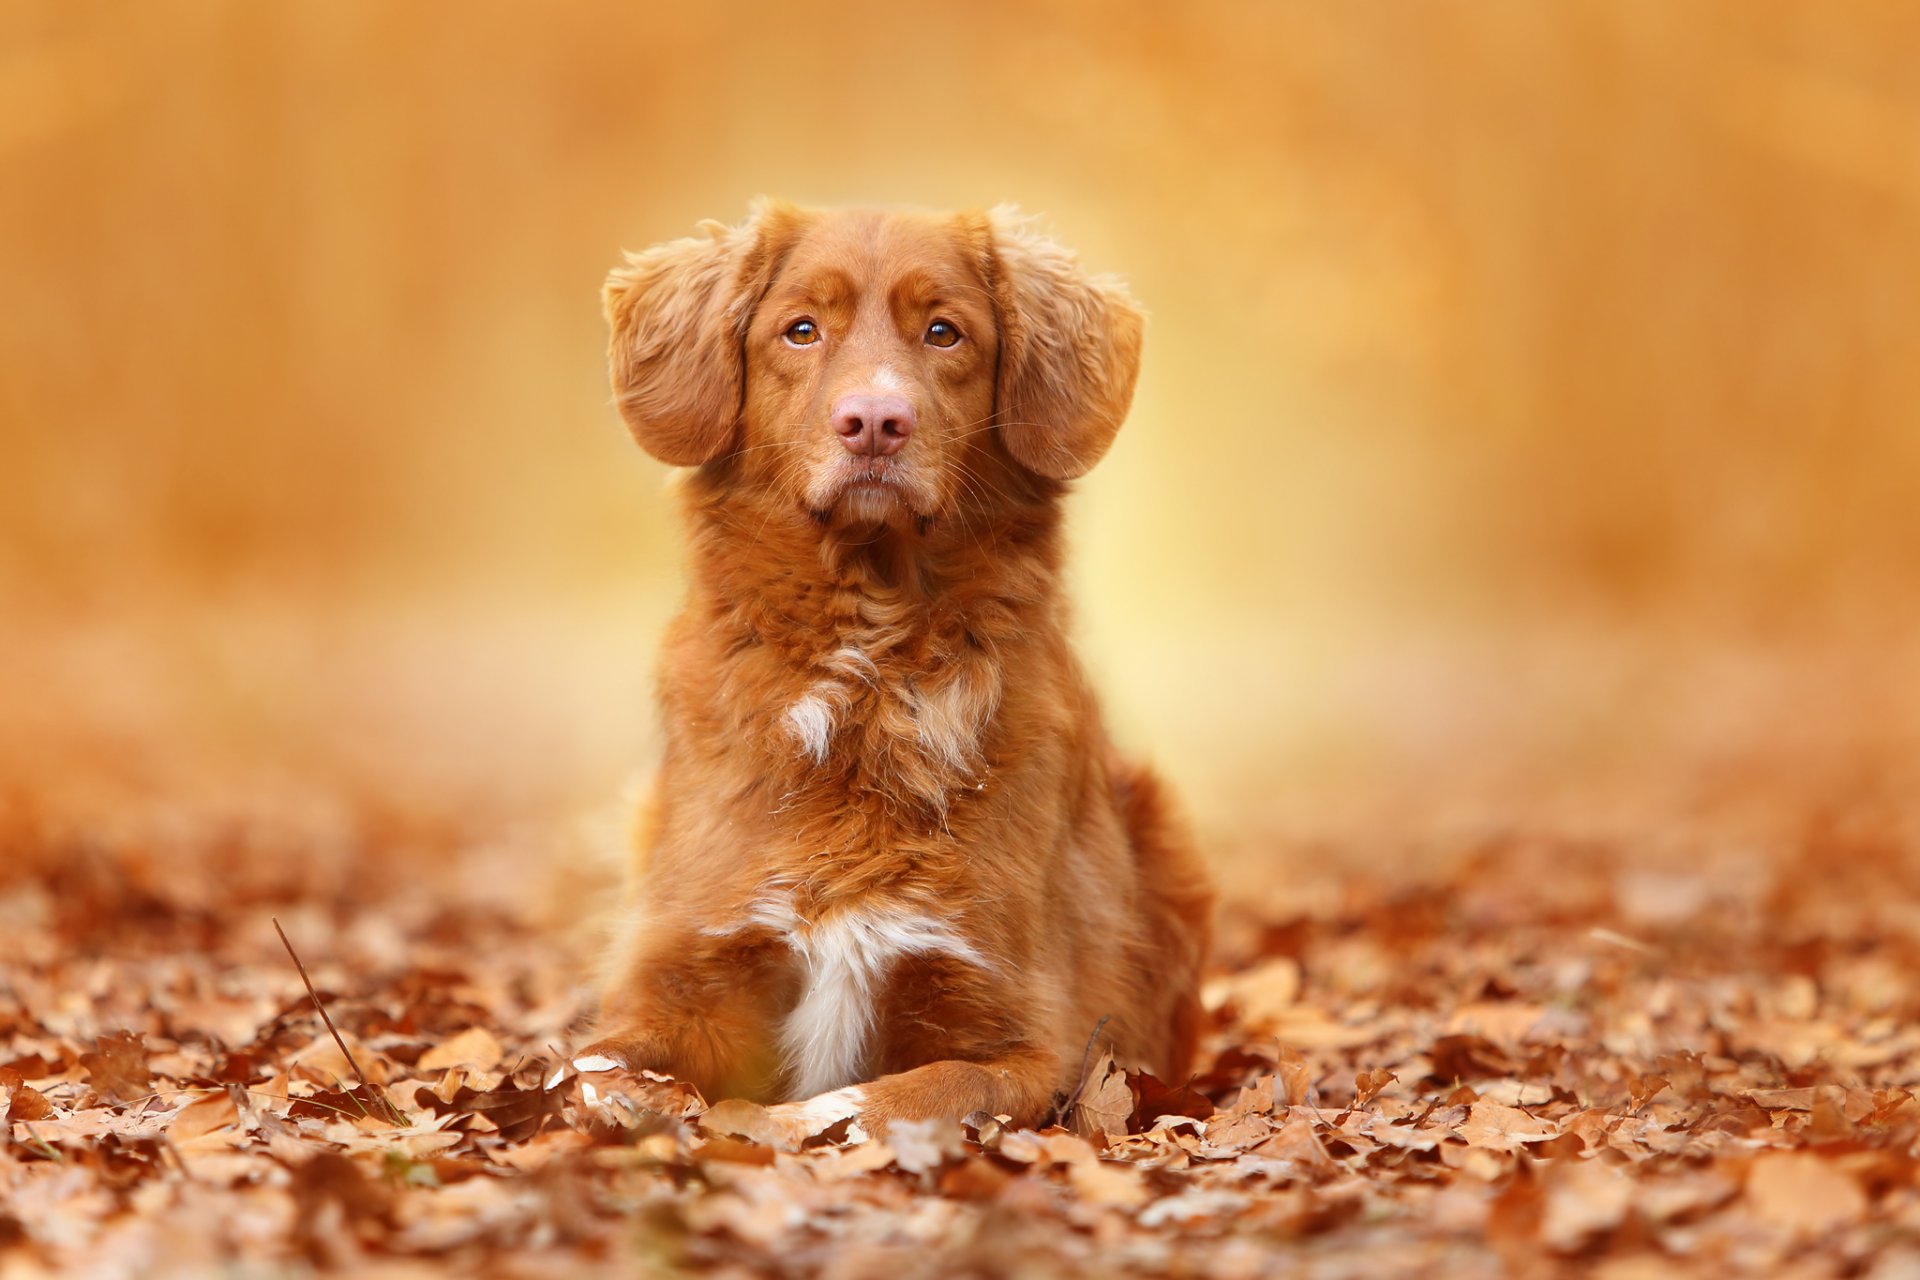
[[[574,1071],[538,841],[0,816],[4,1280],[1920,1276],[1920,862],[1870,794],[1246,835],[1192,1079],[1092,1054],[1039,1130],[866,1142]]]

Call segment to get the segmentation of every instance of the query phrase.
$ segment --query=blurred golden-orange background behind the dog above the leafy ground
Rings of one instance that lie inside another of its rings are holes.
[[[616,796],[680,551],[599,280],[768,192],[1018,201],[1146,301],[1081,637],[1217,858],[1897,798],[1916,48],[1897,0],[8,4],[8,794]]]

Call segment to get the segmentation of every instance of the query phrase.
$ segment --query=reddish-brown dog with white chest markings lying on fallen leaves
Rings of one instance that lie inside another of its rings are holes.
[[[1035,1125],[1096,1036],[1185,1079],[1212,890],[1068,643],[1062,497],[1144,319],[1010,209],[762,201],[628,255],[614,395],[680,476],[637,904],[582,1071],[803,1132]]]

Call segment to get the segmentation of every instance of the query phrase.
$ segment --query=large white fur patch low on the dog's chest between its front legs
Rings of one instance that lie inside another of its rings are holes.
[[[950,919],[899,904],[803,919],[791,894],[768,892],[755,900],[749,919],[785,938],[801,969],[799,1000],[780,1027],[780,1055],[793,1098],[864,1079],[876,1007],[902,960],[945,956],[991,967]]]

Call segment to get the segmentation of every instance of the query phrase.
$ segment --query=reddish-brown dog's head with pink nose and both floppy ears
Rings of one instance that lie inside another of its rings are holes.
[[[605,288],[620,413],[655,457],[822,524],[925,526],[1091,468],[1142,317],[1012,211],[812,211],[630,255]]]

